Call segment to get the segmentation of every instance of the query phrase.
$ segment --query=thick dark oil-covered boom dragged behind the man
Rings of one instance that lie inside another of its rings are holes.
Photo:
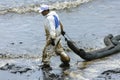
[[[120,52],[120,35],[113,37],[112,34],[109,34],[104,38],[105,48],[98,50],[86,52],[84,49],[79,49],[72,41],[67,40],[68,47],[78,56],[84,60],[93,60],[102,57],[106,57],[115,53]],[[115,43],[114,43],[115,42]]]

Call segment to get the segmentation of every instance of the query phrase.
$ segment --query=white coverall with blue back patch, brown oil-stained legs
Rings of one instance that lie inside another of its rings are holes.
[[[63,63],[69,63],[70,58],[61,46],[61,27],[58,15],[55,11],[50,11],[45,17],[46,45],[43,50],[42,62],[49,64],[51,56],[57,54]],[[51,45],[51,38],[55,39],[55,46]]]

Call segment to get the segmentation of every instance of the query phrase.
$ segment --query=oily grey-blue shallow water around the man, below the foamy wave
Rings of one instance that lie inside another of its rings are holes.
[[[120,34],[119,5],[119,0],[94,0],[77,8],[57,12],[67,35],[80,48],[89,51],[104,47],[103,38],[106,35]],[[119,53],[85,62],[73,52],[67,52],[71,57],[70,69],[59,68],[59,57],[53,57],[53,70],[45,74],[39,67],[45,43],[43,17],[38,13],[9,13],[0,15],[0,22],[0,53],[7,54],[7,57],[0,59],[0,67],[7,67],[0,70],[0,80],[45,80],[50,79],[47,75],[51,74],[55,79],[62,77],[61,80],[105,80],[103,76],[97,77],[104,71],[120,68]],[[66,46],[64,39],[63,45]],[[6,65],[7,63],[9,65]],[[11,65],[12,67],[8,67]],[[24,71],[26,68],[30,70]]]

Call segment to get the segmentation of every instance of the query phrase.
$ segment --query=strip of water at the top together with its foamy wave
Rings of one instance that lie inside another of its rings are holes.
[[[72,7],[77,7],[82,3],[92,0],[0,0],[0,15],[13,13],[38,13],[41,4],[48,4],[50,9],[63,10]]]

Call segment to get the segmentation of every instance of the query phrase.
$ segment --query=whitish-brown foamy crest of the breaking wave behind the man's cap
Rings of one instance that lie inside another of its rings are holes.
[[[14,13],[27,13],[27,12],[38,12],[38,8],[41,4],[48,4],[50,6],[50,9],[55,9],[55,10],[61,10],[61,9],[68,9],[68,8],[73,8],[77,7],[82,3],[86,3],[92,0],[74,0],[74,1],[64,1],[64,2],[49,2],[49,3],[29,3],[29,4],[15,4],[13,6],[4,6],[0,4],[0,14],[6,14],[9,12],[14,12]]]

